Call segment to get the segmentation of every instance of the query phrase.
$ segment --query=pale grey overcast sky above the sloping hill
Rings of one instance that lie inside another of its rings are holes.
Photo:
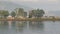
[[[49,14],[48,11],[60,10],[60,0],[0,0],[0,1],[13,2],[31,8],[44,9],[46,14]],[[49,15],[55,15],[55,14],[52,13]]]

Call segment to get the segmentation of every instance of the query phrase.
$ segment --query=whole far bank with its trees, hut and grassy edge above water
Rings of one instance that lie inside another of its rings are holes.
[[[43,9],[32,9],[28,12],[24,8],[15,8],[13,11],[0,10],[0,21],[60,21],[60,17],[44,16]]]

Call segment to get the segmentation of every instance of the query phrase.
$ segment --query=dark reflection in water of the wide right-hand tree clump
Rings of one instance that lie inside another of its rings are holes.
[[[44,29],[44,24],[43,22],[29,22],[29,28],[30,30],[32,30],[33,32],[41,32]]]

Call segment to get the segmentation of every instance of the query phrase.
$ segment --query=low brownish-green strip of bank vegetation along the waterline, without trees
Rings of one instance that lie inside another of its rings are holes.
[[[0,19],[0,21],[60,21],[60,18],[50,19],[50,18],[24,18],[24,19]]]

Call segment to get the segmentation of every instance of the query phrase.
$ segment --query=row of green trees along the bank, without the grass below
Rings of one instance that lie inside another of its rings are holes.
[[[18,11],[18,14],[16,13],[17,11]],[[23,12],[25,12],[23,8],[16,8],[10,14],[9,14],[8,10],[0,10],[0,18],[2,18],[2,16],[4,18],[6,18],[9,15],[11,15],[12,17],[15,17],[16,14],[17,15],[21,15]],[[42,17],[44,14],[45,14],[45,12],[44,12],[43,9],[33,9],[33,10],[29,11],[29,18],[32,18],[32,17]]]

